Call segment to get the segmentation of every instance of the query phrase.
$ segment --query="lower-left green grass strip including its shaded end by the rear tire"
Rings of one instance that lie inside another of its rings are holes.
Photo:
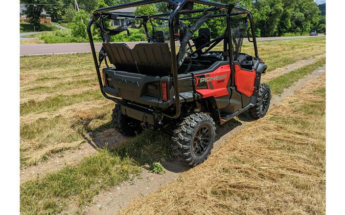
[[[171,154],[170,138],[163,132],[147,130],[109,151],[99,149],[76,166],[66,166],[38,180],[20,186],[22,214],[55,214],[69,202],[82,208],[100,190],[133,179],[140,165],[153,164]]]

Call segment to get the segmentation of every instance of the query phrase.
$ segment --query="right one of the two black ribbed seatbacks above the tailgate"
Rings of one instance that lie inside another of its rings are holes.
[[[171,55],[167,43],[139,43],[132,49],[141,74],[166,76],[171,72]]]

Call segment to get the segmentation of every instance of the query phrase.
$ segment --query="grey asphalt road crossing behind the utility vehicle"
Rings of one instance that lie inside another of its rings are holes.
[[[268,41],[268,40],[287,40],[287,39],[298,39],[308,38],[310,36],[297,36],[297,37],[259,37],[257,41]],[[324,37],[319,35],[318,37]],[[247,39],[244,39],[244,42]],[[126,42],[131,48],[135,44],[141,42]],[[101,49],[101,43],[95,44],[96,50]],[[61,53],[77,53],[77,52],[90,52],[89,43],[57,43],[57,44],[20,44],[20,56],[26,55],[54,55]]]

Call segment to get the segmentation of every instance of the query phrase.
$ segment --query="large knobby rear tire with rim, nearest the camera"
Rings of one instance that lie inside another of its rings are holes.
[[[211,153],[216,136],[212,117],[193,113],[182,119],[174,130],[174,150],[183,163],[191,167],[201,164]]]

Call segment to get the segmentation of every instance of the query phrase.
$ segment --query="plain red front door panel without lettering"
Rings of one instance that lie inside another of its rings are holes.
[[[235,85],[237,91],[250,97],[254,92],[255,76],[255,70],[243,70],[239,65],[235,65]]]

